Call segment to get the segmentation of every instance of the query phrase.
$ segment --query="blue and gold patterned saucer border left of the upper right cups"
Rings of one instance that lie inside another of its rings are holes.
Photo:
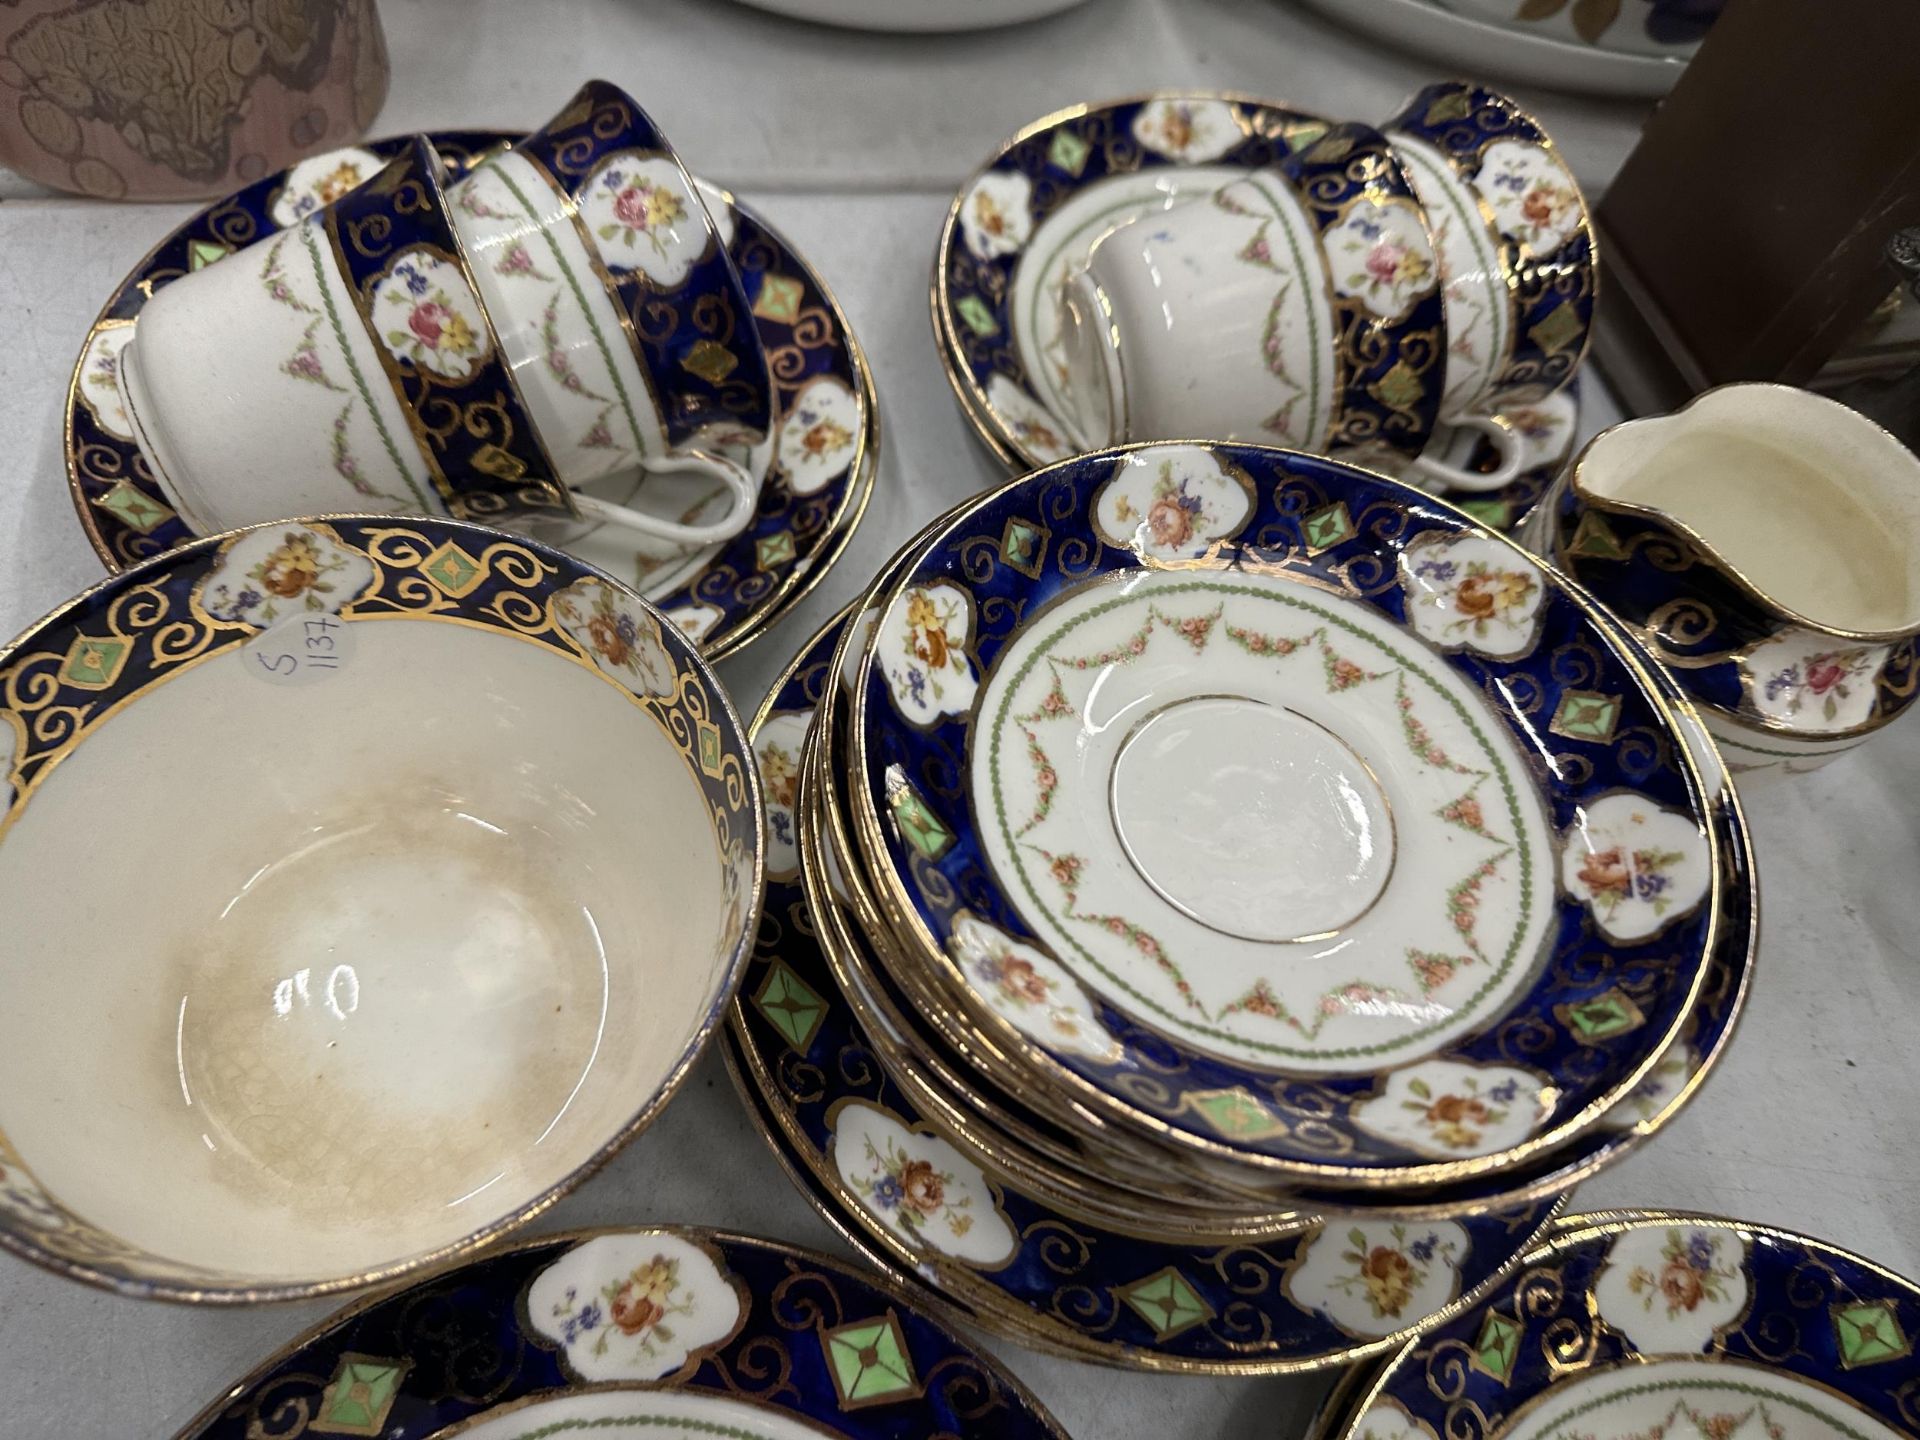
[[[1048,430],[1010,315],[1014,273],[1035,227],[1114,175],[1196,163],[1260,169],[1325,131],[1323,119],[1244,96],[1167,92],[1075,106],[1002,146],[947,215],[935,257],[933,321],[947,378],[1004,465],[1033,468],[1071,449]],[[987,211],[972,215],[981,202]],[[973,244],[970,227],[979,236]],[[995,403],[996,378],[1020,396],[1021,413]]]

